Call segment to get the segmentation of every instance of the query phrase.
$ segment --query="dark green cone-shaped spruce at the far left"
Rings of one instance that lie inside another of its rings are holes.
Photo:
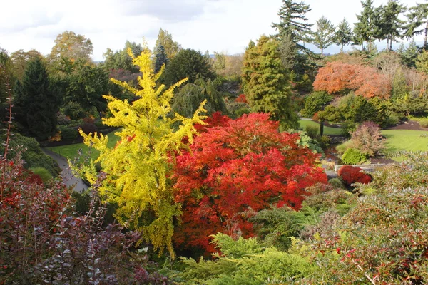
[[[16,120],[24,133],[45,140],[55,133],[58,100],[40,58],[31,61],[15,88]]]

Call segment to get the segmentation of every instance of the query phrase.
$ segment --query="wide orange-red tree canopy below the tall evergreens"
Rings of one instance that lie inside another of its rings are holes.
[[[389,98],[392,88],[388,76],[377,73],[376,68],[340,61],[320,68],[313,86],[314,90],[329,94],[355,90],[355,94],[366,98]]]

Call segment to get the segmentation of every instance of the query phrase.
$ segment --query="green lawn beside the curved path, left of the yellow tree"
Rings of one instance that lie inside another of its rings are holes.
[[[114,147],[116,145],[116,142],[120,139],[117,135],[114,133],[117,133],[120,130],[113,130],[113,132],[108,133],[108,147]],[[84,145],[83,143],[76,143],[73,145],[63,145],[61,147],[46,147],[48,150],[51,150],[53,152],[58,153],[58,155],[61,155],[63,157],[67,157],[69,159],[73,159],[77,157],[78,150],[81,150],[82,158],[86,158],[89,154],[91,155],[91,159],[96,160],[98,158],[98,155],[100,154],[98,150],[94,150],[91,147],[88,147]]]

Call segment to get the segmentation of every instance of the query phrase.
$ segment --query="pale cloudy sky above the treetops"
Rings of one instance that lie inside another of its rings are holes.
[[[300,1],[300,0],[298,0]],[[156,43],[159,28],[172,34],[183,48],[202,53],[243,53],[250,40],[275,34],[272,22],[279,22],[277,12],[282,0],[5,0],[1,4],[0,48],[9,53],[34,48],[47,55],[54,40],[63,31],[74,31],[90,38],[92,58],[103,61],[107,48],[124,47],[126,41]],[[309,23],[325,16],[332,24],[345,17],[353,26],[362,8],[360,0],[306,0],[312,11]],[[374,0],[374,6],[387,0]],[[407,7],[414,0],[402,0]],[[404,18],[403,18],[404,19]],[[315,26],[312,27],[315,30]],[[422,42],[422,36],[415,38]],[[378,49],[386,43],[376,43]],[[398,48],[394,43],[393,48]],[[314,51],[317,48],[309,46]],[[350,47],[349,47],[350,48]],[[349,49],[348,48],[348,49]],[[346,50],[347,48],[345,48]],[[325,53],[337,53],[330,46]]]

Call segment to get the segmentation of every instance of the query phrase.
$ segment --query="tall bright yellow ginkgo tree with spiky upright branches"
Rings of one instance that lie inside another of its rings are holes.
[[[131,50],[128,53],[133,64],[140,67],[142,75],[138,77],[138,83],[141,88],[133,88],[115,79],[112,81],[138,99],[130,103],[111,95],[103,96],[108,100],[111,112],[110,118],[103,118],[103,123],[121,127],[116,133],[121,141],[109,148],[107,136],[80,133],[86,145],[100,152],[95,161],[101,163],[103,177],[98,189],[108,201],[118,203],[118,221],[141,232],[143,239],[151,242],[155,249],[162,252],[166,247],[173,254],[173,220],[180,215],[180,205],[174,202],[173,189],[168,184],[168,173],[173,166],[171,157],[186,147],[183,138],[192,142],[196,132],[193,125],[202,123],[205,118],[200,115],[205,111],[204,103],[193,118],[174,114],[170,107],[173,90],[187,78],[165,90],[165,86],[156,85],[165,66],[154,73],[151,51],[146,48],[136,57]],[[83,176],[96,182],[95,167],[86,168]]]

